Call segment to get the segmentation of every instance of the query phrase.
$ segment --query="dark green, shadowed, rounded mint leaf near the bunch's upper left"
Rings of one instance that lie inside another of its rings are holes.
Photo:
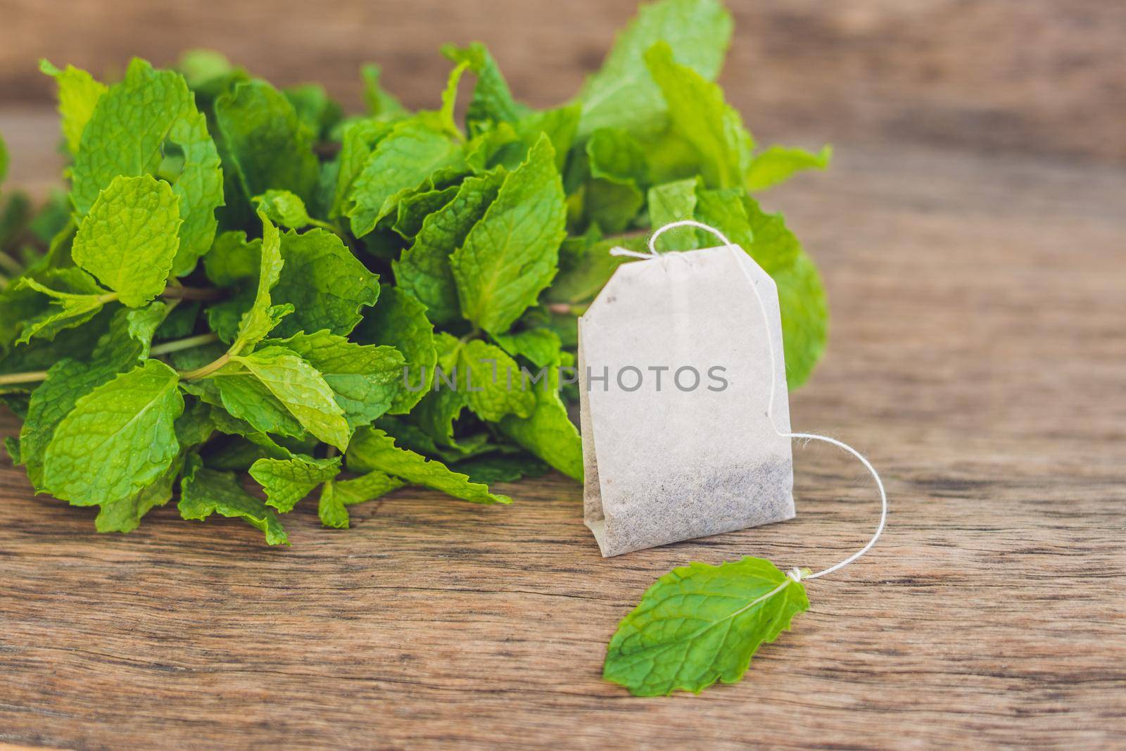
[[[269,189],[313,197],[320,175],[314,134],[285,95],[265,81],[245,81],[215,101],[224,159],[249,199]]]

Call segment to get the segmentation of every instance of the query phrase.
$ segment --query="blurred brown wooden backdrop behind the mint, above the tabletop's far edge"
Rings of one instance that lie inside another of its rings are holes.
[[[376,62],[410,106],[436,107],[445,42],[489,45],[534,105],[578,91],[635,0],[0,0],[0,129],[16,182],[42,167],[53,107],[39,57],[113,78],[131,55],[158,65],[216,48],[278,86],[323,82],[360,106]],[[887,141],[938,149],[1126,162],[1121,0],[730,0],[735,34],[721,78],[762,143]],[[37,173],[36,173],[37,172]]]

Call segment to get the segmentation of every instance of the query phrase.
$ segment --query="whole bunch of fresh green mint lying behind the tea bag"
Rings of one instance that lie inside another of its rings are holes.
[[[751,196],[829,154],[754,151],[712,83],[730,36],[717,0],[644,7],[546,110],[512,98],[481,44],[443,51],[437,110],[404,109],[366,68],[356,117],[213,53],[134,60],[113,84],[44,62],[70,191],[35,215],[12,195],[0,217],[0,399],[24,420],[8,450],[38,492],[99,506],[101,531],[178,494],[185,519],[242,518],[270,544],[314,491],[347,527],[348,506],[404,484],[508,503],[486,483],[580,479],[556,367],[575,318],[609,247],[685,217],[778,281],[799,384],[824,342],[821,284]],[[432,388],[439,368],[474,390]]]

